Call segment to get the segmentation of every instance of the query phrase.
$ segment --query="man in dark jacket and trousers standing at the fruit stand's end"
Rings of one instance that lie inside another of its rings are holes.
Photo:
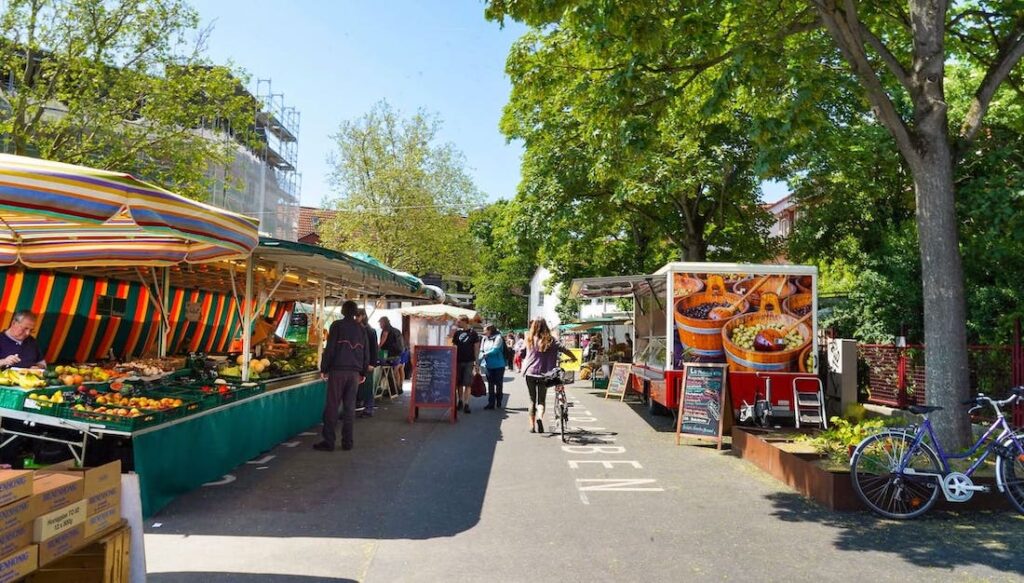
[[[352,426],[355,424],[355,393],[367,379],[370,367],[370,342],[367,331],[355,321],[358,308],[354,301],[341,304],[342,319],[335,321],[328,332],[327,349],[321,360],[321,376],[327,379],[327,402],[324,404],[324,441],[314,450],[333,452],[341,416],[341,449],[352,449]]]

